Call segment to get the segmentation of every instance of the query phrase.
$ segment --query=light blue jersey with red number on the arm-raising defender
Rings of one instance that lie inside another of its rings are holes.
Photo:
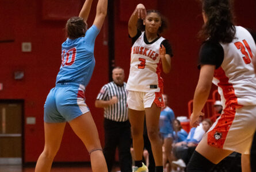
[[[85,37],[67,38],[62,44],[62,65],[57,75],[58,83],[77,83],[86,87],[95,66],[94,42],[100,30],[91,26]]]

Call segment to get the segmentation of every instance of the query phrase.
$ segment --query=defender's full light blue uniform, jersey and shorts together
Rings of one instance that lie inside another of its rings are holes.
[[[94,42],[99,32],[93,25],[85,37],[75,40],[67,38],[63,42],[62,65],[56,87],[51,89],[44,104],[45,122],[71,121],[90,111],[85,104],[85,87],[93,74]]]

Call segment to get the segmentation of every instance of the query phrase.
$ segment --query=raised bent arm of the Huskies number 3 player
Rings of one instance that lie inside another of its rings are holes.
[[[136,9],[133,11],[128,22],[128,32],[130,37],[135,37],[137,34],[137,19],[138,18],[144,19],[146,18],[146,15],[147,15],[146,8],[142,3],[139,3],[136,6]]]

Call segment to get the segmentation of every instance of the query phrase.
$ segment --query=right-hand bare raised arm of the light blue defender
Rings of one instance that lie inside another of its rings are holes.
[[[101,29],[108,9],[108,0],[98,0],[96,16],[93,22],[98,29]]]

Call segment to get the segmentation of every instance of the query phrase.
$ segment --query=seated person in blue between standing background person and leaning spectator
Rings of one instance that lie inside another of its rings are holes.
[[[182,127],[181,127],[181,122],[179,122],[178,119],[175,119],[173,122],[173,136],[174,136],[174,143],[177,142],[182,142],[186,140],[188,136],[188,132],[186,132]]]

